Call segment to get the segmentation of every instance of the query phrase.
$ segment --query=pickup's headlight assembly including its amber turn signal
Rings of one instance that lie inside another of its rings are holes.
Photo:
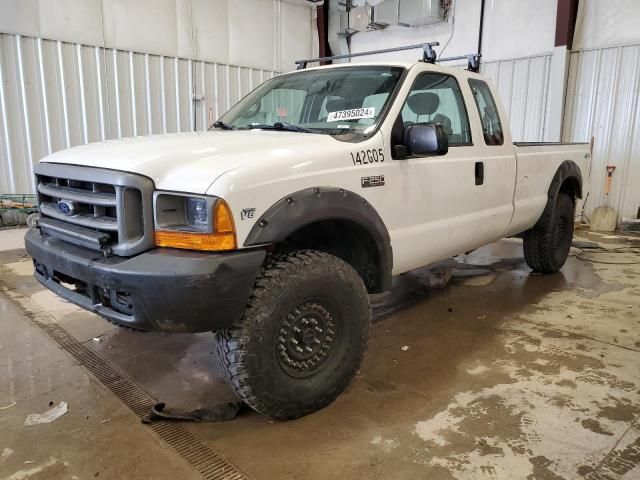
[[[236,248],[231,209],[221,198],[156,192],[154,216],[159,247],[207,251]]]

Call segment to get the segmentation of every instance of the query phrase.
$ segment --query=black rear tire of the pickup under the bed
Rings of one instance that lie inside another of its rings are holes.
[[[524,233],[524,259],[536,273],[555,273],[567,260],[575,218],[575,205],[566,193],[559,193],[551,215]]]

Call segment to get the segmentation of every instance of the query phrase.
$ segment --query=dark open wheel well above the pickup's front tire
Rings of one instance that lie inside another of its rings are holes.
[[[373,236],[356,222],[321,220],[291,233],[278,248],[312,249],[335,255],[351,265],[369,293],[384,290],[381,255]]]

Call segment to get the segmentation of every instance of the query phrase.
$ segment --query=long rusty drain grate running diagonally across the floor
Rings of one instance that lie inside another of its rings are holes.
[[[2,288],[8,298],[20,308],[31,321],[49,338],[66,350],[78,363],[107,387],[138,417],[143,417],[156,404],[138,385],[127,379],[116,367],[93,350],[78,342],[71,334],[56,323],[42,321],[46,314],[33,311],[31,301],[14,289]],[[202,478],[207,480],[246,480],[247,476],[238,467],[211,450],[198,437],[179,423],[154,422],[151,430],[182,457]]]

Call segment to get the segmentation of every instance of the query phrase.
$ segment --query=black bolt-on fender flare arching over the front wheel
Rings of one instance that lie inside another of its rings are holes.
[[[393,250],[389,231],[366,199],[343,188],[307,188],[278,200],[256,221],[244,246],[279,243],[296,230],[322,220],[349,220],[364,228],[378,249],[380,290],[391,287]]]

